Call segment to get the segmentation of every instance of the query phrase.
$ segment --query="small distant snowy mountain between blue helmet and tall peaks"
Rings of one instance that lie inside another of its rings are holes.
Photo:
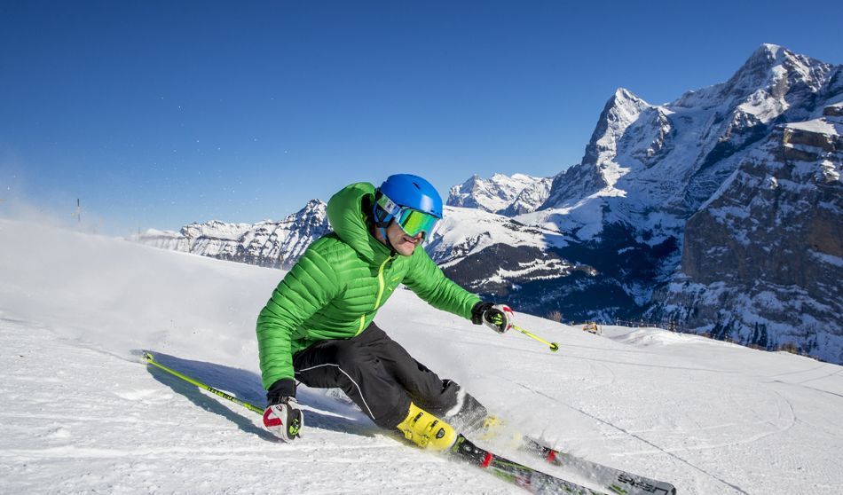
[[[461,185],[454,185],[446,204],[477,208],[505,216],[515,216],[539,208],[550,193],[553,177],[494,174],[485,179],[477,175]]]

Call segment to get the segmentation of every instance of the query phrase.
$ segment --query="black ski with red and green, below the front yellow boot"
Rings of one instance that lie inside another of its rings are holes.
[[[515,484],[530,493],[536,494],[564,494],[564,495],[606,495],[602,491],[595,491],[577,483],[571,483],[557,478],[518,462],[504,459],[497,454],[473,444],[465,436],[457,436],[457,441],[448,452],[456,460],[473,464],[487,469],[492,475]]]

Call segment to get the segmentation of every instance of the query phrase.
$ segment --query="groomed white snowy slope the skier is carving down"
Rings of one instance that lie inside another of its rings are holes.
[[[254,321],[279,271],[6,220],[0,252],[4,492],[519,492],[400,444],[319,390],[300,390],[318,410],[303,439],[279,444],[256,414],[140,363],[136,350],[153,350],[260,403]],[[408,291],[377,319],[520,429],[588,459],[683,494],[843,491],[839,365],[518,317],[562,350]]]

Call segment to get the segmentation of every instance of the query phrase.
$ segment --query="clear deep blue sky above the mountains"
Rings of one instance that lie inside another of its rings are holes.
[[[280,219],[398,172],[579,162],[606,100],[761,43],[843,62],[843,2],[0,0],[0,215],[99,232]],[[5,211],[4,211],[5,210]]]

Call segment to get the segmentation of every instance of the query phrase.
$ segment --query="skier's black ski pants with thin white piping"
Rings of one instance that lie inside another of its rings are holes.
[[[442,417],[459,386],[441,380],[372,323],[351,339],[316,342],[295,353],[295,378],[315,389],[343,389],[381,428],[405,420],[410,401]]]

